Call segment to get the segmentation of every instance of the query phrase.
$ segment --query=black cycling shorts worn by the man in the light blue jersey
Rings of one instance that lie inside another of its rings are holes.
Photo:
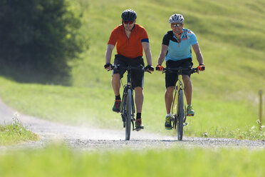
[[[192,59],[182,59],[178,61],[172,61],[169,60],[166,62],[166,66],[168,68],[191,68],[193,66]],[[188,75],[190,77],[189,71],[182,71],[183,75]],[[170,87],[170,86],[175,86],[177,83],[177,74],[176,73],[170,73],[166,72],[165,73],[165,86]]]

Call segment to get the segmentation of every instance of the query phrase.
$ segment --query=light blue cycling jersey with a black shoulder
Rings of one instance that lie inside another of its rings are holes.
[[[177,41],[173,31],[167,31],[167,34],[165,34],[162,41],[162,44],[168,46],[165,61],[178,61],[189,58],[192,59],[192,45],[197,43],[198,41],[195,34],[189,29],[183,28],[180,41]]]

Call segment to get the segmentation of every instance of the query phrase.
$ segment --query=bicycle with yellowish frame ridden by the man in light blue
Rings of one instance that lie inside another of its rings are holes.
[[[182,71],[189,71],[190,74],[194,74],[197,72],[197,68],[164,68],[162,71],[162,74],[165,72],[177,73],[177,84],[175,86],[174,98],[171,107],[171,121],[173,122],[172,128],[177,128],[177,139],[179,141],[182,141],[183,126],[187,126],[187,113],[183,95],[184,86],[182,84]]]

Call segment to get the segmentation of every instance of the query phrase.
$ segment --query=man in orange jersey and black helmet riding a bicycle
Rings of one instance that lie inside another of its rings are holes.
[[[148,71],[154,71],[152,67],[152,54],[150,51],[149,39],[145,28],[139,24],[135,24],[137,15],[135,11],[126,9],[121,14],[122,24],[113,29],[108,41],[107,50],[105,52],[105,69],[110,70],[112,64],[110,64],[111,55],[116,45],[117,53],[115,55],[114,64],[120,66],[145,66],[142,58],[142,48],[145,50],[145,57],[147,66],[145,69]],[[115,103],[113,111],[120,112],[120,79],[123,78],[125,71],[113,69],[113,76],[111,84],[115,93]],[[135,105],[136,105],[136,121],[135,128],[140,130],[142,128],[142,103],[143,103],[143,81],[144,71],[133,70],[132,71],[132,86],[135,90]]]

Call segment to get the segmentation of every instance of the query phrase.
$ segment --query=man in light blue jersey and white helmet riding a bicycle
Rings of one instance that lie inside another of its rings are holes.
[[[157,61],[158,70],[162,70],[162,63],[165,60],[166,66],[169,68],[192,67],[192,50],[194,50],[197,61],[199,63],[198,70],[204,71],[205,66],[203,62],[202,53],[199,49],[199,44],[195,34],[189,29],[183,28],[184,17],[181,14],[173,14],[169,20],[171,24],[171,31],[167,31],[163,41],[160,56]],[[190,80],[189,71],[182,71],[182,80],[185,85],[185,96],[187,100],[187,116],[194,116],[194,110],[192,108],[192,82]],[[177,74],[166,73],[165,74],[165,106],[166,106],[166,118],[165,128],[171,129],[171,114],[170,109],[173,101],[173,91],[177,82]]]

